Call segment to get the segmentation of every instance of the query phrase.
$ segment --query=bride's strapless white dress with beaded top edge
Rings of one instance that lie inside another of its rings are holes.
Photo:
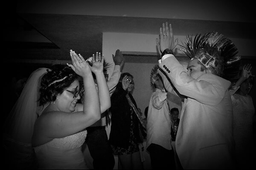
[[[39,169],[88,169],[81,151],[86,135],[84,130],[34,147]]]

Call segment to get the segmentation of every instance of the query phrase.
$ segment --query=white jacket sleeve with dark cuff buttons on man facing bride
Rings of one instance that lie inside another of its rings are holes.
[[[218,104],[224,98],[227,90],[224,88],[224,79],[218,80],[216,75],[205,74],[201,75],[201,80],[196,80],[187,74],[174,55],[169,55],[164,60],[162,58],[159,66],[182,95],[210,105]],[[229,84],[226,83],[225,86],[229,87],[230,82]]]

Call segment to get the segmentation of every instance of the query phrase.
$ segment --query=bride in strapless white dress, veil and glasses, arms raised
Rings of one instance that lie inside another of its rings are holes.
[[[73,64],[33,72],[7,118],[3,144],[17,168],[35,168],[34,149],[39,169],[87,169],[81,151],[85,128],[110,107],[110,95],[103,56],[96,54],[93,66],[72,50],[70,56]],[[81,87],[79,76],[83,80]],[[83,94],[83,104],[77,103]],[[102,105],[100,101],[104,101]]]

